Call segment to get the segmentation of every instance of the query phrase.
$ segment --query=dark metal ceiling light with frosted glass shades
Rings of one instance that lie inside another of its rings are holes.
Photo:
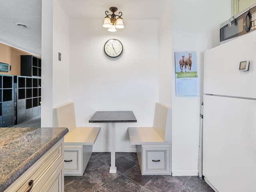
[[[108,11],[105,12],[106,17],[104,18],[103,27],[108,28],[108,31],[115,32],[116,28],[124,28],[122,12],[119,12],[119,15],[114,14],[118,9],[116,7],[110,7],[109,10],[112,14],[108,14]],[[118,16],[118,18],[116,18]]]

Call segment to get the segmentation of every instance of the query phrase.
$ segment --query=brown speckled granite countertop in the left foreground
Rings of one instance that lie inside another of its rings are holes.
[[[42,157],[68,128],[0,128],[0,192]]]

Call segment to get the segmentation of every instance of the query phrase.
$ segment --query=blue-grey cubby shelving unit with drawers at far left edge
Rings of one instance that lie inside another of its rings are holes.
[[[12,75],[0,75],[0,127],[13,124],[13,80]]]

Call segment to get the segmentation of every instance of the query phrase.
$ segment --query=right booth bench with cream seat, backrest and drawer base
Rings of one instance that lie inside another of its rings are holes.
[[[170,175],[171,108],[156,103],[153,127],[128,127],[142,175]]]

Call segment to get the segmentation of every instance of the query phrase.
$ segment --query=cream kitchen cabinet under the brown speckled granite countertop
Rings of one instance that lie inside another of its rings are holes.
[[[58,141],[4,192],[64,192],[64,138]]]

